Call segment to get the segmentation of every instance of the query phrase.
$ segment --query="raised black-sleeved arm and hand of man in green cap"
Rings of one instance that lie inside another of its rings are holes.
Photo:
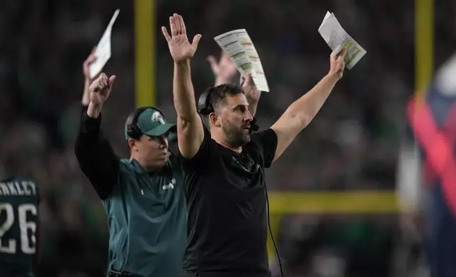
[[[101,107],[113,86],[115,76],[101,76],[89,87],[89,108],[81,118],[74,153],[84,175],[89,178],[101,199],[110,195],[117,182],[120,161],[100,130]]]

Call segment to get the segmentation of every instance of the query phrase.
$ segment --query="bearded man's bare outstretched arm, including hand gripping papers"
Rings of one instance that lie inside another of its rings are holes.
[[[331,54],[329,73],[312,90],[309,90],[308,93],[293,102],[278,121],[271,126],[271,129],[277,134],[277,148],[274,160],[277,160],[282,155],[297,134],[314,119],[336,83],[342,78],[345,67],[343,61],[345,54],[346,49],[343,49],[338,54]]]

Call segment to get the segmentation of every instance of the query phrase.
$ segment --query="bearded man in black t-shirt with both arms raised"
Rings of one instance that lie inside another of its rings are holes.
[[[331,54],[329,73],[287,108],[270,129],[251,134],[253,120],[242,88],[224,84],[206,90],[198,110],[190,59],[201,35],[188,42],[182,16],[162,27],[174,62],[173,97],[178,147],[183,156],[188,203],[186,276],[263,277],[268,266],[266,180],[270,167],[315,117],[343,74],[346,50]],[[233,53],[235,54],[235,53]]]

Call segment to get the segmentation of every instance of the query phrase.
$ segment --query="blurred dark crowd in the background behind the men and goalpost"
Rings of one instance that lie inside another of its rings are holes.
[[[203,35],[192,62],[197,94],[214,83],[207,56],[220,54],[220,48],[213,37],[246,28],[270,86],[258,106],[261,128],[329,70],[330,49],[317,29],[326,11],[334,12],[367,54],[346,71],[314,122],[268,170],[268,187],[394,189],[404,103],[414,92],[414,1],[155,2],[157,105],[166,116],[175,118],[172,61],[159,27],[176,11],[186,19],[189,37]],[[43,276],[101,276],[106,265],[106,219],[73,147],[84,86],[81,65],[115,8],[120,16],[105,71],[118,79],[103,107],[102,127],[118,155],[127,156],[123,126],[135,97],[132,1],[0,4],[0,177],[27,175],[40,185]],[[436,1],[437,64],[454,48],[455,12],[454,1]],[[279,248],[295,276],[310,271],[340,276],[334,272],[344,270],[355,274],[350,276],[387,276],[399,243],[394,216],[290,215],[280,226]],[[322,261],[324,268],[339,270],[319,271]]]

